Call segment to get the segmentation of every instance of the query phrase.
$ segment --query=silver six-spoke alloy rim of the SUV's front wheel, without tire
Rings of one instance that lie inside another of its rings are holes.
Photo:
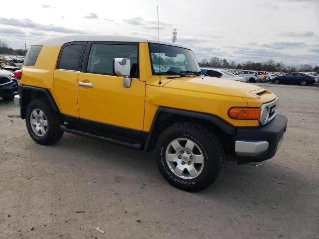
[[[204,168],[204,154],[196,143],[187,138],[171,141],[165,153],[169,169],[180,178],[196,178]]]

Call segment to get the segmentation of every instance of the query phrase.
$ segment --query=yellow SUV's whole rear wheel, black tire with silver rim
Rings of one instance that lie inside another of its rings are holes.
[[[29,103],[25,123],[31,138],[39,144],[53,144],[63,135],[58,113],[54,112],[50,103],[43,98]]]

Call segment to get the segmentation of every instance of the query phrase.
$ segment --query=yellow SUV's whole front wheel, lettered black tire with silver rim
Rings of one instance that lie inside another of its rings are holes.
[[[214,132],[182,122],[160,134],[156,158],[160,173],[171,185],[196,192],[217,179],[224,165],[224,150]]]

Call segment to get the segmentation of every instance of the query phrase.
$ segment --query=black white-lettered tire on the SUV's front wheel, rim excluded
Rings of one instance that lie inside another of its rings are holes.
[[[167,146],[177,138],[192,140],[203,153],[203,169],[195,178],[179,177],[167,164]],[[161,175],[168,183],[184,191],[197,192],[206,189],[217,179],[224,166],[225,155],[223,146],[214,132],[199,124],[181,122],[169,126],[160,134],[156,146],[156,160]]]

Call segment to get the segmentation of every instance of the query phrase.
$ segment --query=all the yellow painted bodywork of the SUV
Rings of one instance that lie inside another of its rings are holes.
[[[43,46],[34,67],[23,66],[23,85],[48,89],[61,113],[149,131],[157,109],[169,107],[218,116],[234,126],[257,126],[258,120],[228,117],[231,107],[260,107],[276,96],[237,81],[201,76],[153,76],[147,43],[139,45],[140,79],[130,88],[123,78],[56,70],[60,46]],[[77,82],[93,83],[93,88]],[[161,84],[159,84],[161,81]]]

